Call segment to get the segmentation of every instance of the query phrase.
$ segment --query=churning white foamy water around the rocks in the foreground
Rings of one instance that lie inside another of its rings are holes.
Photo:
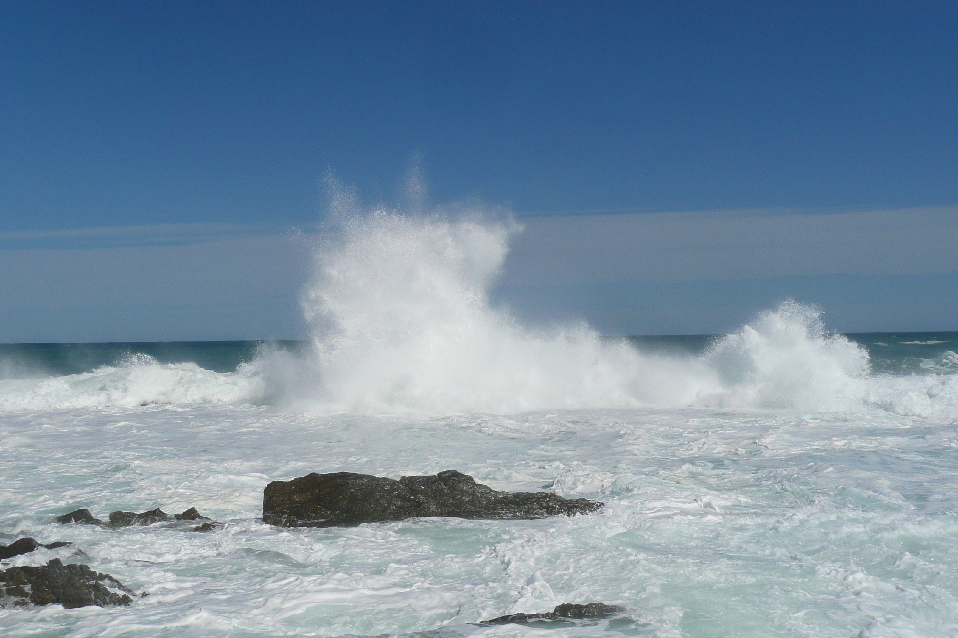
[[[947,636],[958,629],[956,446],[952,425],[887,412],[8,414],[0,542],[75,546],[4,566],[83,562],[150,595],[121,608],[0,608],[0,634]],[[449,468],[606,506],[587,517],[332,529],[260,519],[270,480]],[[223,526],[53,522],[78,507],[103,517],[156,506],[195,506]],[[625,624],[468,625],[591,602],[621,605]]]

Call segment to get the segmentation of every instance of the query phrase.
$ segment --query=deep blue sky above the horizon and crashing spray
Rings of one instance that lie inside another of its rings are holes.
[[[956,113],[954,2],[3,2],[0,341],[300,336],[273,231],[321,216],[328,168],[388,201],[414,156],[434,202],[528,220],[497,293],[524,318],[712,332],[796,296],[837,329],[955,330],[958,262],[923,242],[958,240]],[[821,221],[805,261],[690,269],[690,240],[656,275],[529,275],[580,216],[600,241],[757,210]],[[881,220],[920,228],[859,232]],[[229,242],[271,255],[262,289]]]

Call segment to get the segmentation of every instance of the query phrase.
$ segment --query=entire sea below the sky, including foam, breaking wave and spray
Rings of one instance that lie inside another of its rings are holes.
[[[4,636],[958,635],[958,334],[604,339],[490,304],[514,225],[344,216],[313,339],[0,347],[4,561],[89,564],[128,607],[0,608]],[[456,469],[601,500],[537,520],[262,522],[310,472]],[[221,526],[60,525],[80,507]],[[479,624],[560,603],[619,618]]]

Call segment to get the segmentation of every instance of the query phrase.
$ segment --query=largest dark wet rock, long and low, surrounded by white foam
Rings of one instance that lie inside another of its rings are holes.
[[[398,481],[335,472],[273,481],[262,492],[262,519],[285,527],[333,527],[412,517],[572,516],[603,505],[547,492],[497,492],[455,470]]]

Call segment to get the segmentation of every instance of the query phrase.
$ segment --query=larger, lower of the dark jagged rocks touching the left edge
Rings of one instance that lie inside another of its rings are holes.
[[[86,605],[129,605],[133,602],[123,583],[109,574],[90,569],[89,565],[64,565],[54,559],[38,567],[11,567],[0,570],[0,604],[12,598],[13,605],[51,605],[59,603],[66,608]]]

